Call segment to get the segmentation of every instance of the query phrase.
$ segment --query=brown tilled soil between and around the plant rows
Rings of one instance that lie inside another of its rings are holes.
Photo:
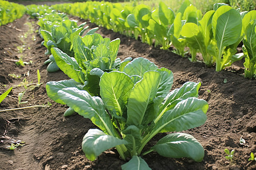
[[[76,18],[78,19],[78,18]],[[51,80],[63,80],[68,77],[61,71],[47,73],[44,54],[46,48],[40,45],[38,26],[34,23],[34,32],[22,42],[19,36],[30,29],[26,22],[35,20],[23,16],[0,27],[0,94],[10,87],[13,91],[0,104],[0,110],[19,108],[36,104],[52,103],[51,108],[32,108],[0,113],[0,135],[26,142],[15,150],[0,150],[0,169],[121,169],[125,162],[119,159],[114,148],[105,151],[91,162],[86,159],[81,150],[84,134],[91,128],[96,128],[88,119],[78,114],[63,117],[68,108],[57,104],[48,98],[46,83]],[[94,24],[89,26],[95,27]],[[199,98],[207,100],[209,110],[208,120],[199,128],[185,131],[193,135],[205,148],[203,162],[196,163],[189,159],[172,159],[159,156],[155,152],[143,156],[152,169],[255,169],[255,162],[249,162],[251,152],[256,152],[256,116],[255,96],[256,80],[245,79],[241,75],[241,67],[232,66],[230,71],[220,73],[214,68],[206,68],[203,63],[192,63],[187,58],[153,48],[140,41],[119,35],[105,28],[97,33],[104,37],[121,39],[118,57],[144,57],[156,63],[159,67],[167,67],[174,73],[173,88],[181,87],[187,81],[201,82]],[[36,40],[32,40],[35,36]],[[26,45],[22,54],[16,46]],[[28,47],[30,49],[28,49]],[[15,60],[23,55],[24,61],[32,61],[30,65],[16,66]],[[24,78],[31,83],[37,82],[36,70],[41,74],[40,87],[27,90],[22,101],[26,104],[18,105],[18,94],[24,91],[24,86],[16,86]],[[28,75],[29,71],[29,75]],[[8,74],[21,75],[15,79]],[[224,83],[224,79],[227,80]],[[6,86],[5,86],[6,85]],[[153,145],[166,133],[158,134],[148,146]],[[246,145],[240,145],[240,138],[245,139]],[[0,146],[6,145],[6,141]],[[224,149],[234,149],[234,162],[229,164],[225,159]]]

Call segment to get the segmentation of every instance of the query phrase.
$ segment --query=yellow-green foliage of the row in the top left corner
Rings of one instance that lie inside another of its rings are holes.
[[[0,0],[0,26],[21,18],[25,12],[24,5]]]

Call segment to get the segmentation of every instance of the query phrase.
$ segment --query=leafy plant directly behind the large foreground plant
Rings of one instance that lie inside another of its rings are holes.
[[[73,50],[75,58],[69,57],[58,48],[52,48],[52,54],[57,66],[77,83],[84,85],[83,89],[88,90],[91,95],[99,96],[100,78],[90,74],[94,68],[101,71],[112,71],[115,65],[121,62],[117,58],[120,40],[110,41],[109,38],[103,39],[101,35],[95,33],[84,37],[76,36],[73,40]],[[96,74],[96,73],[94,73]]]

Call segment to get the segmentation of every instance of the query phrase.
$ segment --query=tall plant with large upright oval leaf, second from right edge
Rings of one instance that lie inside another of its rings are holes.
[[[218,7],[212,17],[212,31],[214,39],[208,52],[216,58],[216,71],[242,59],[242,55],[235,55],[243,38],[242,18],[237,10],[227,5]]]

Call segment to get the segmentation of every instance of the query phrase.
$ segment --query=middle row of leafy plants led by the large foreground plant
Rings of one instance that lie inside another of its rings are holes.
[[[67,25],[70,31],[75,29],[73,32],[81,28],[63,18],[50,22],[46,18],[53,18],[51,15],[56,14],[39,19],[40,32],[42,35],[47,32],[43,37],[52,37],[44,38],[44,44],[51,50],[56,65],[71,79],[48,82],[47,94],[70,107],[64,116],[77,112],[101,129],[90,129],[82,141],[82,150],[89,160],[95,160],[112,147],[117,148],[123,160],[130,159],[122,169],[150,169],[142,156],[152,151],[170,158],[203,160],[203,146],[185,133],[168,134],[150,150],[143,150],[158,133],[204,124],[208,103],[197,99],[200,82],[187,82],[170,92],[173,83],[170,70],[159,69],[142,57],[121,61],[117,58],[120,40],[111,41],[94,31],[83,37],[80,32],[69,35],[70,45],[63,48],[55,43],[64,39],[63,32],[54,37],[53,32],[67,29]]]

